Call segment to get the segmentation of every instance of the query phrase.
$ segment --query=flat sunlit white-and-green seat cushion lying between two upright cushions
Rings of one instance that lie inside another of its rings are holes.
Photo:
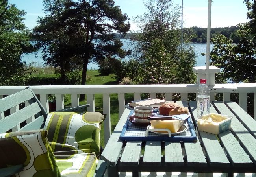
[[[78,150],[54,152],[62,177],[92,177],[98,159],[95,153],[83,153]]]

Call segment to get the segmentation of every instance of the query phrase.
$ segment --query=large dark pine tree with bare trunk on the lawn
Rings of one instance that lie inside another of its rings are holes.
[[[80,66],[85,84],[89,62],[127,54],[114,31],[127,33],[129,18],[113,0],[44,0],[44,6],[46,16],[39,19],[34,34],[44,47],[46,63],[59,66],[63,77]]]

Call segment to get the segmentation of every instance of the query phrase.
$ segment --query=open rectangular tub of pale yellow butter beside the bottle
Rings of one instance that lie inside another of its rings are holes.
[[[231,127],[232,116],[210,113],[197,119],[198,130],[218,135]]]

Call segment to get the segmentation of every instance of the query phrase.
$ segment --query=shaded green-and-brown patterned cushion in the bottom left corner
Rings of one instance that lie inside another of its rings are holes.
[[[0,134],[0,168],[22,164],[19,177],[60,177],[46,130]]]

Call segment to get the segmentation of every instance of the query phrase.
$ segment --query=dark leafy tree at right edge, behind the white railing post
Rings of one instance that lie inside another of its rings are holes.
[[[256,14],[255,1],[244,0],[247,5],[247,17],[250,22],[239,24],[236,31],[237,44],[224,35],[212,39],[211,64],[222,69],[217,81],[256,82]]]

